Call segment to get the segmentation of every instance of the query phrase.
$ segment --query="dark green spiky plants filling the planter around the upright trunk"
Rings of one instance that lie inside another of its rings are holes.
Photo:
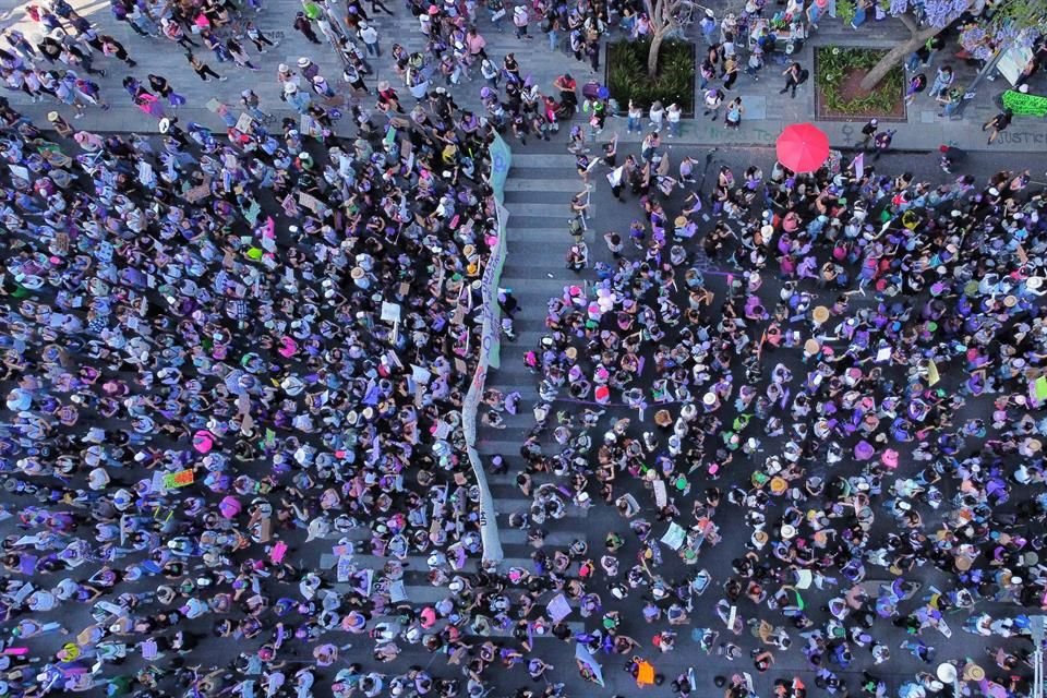
[[[666,107],[674,101],[686,116],[695,112],[695,55],[687,41],[662,43],[658,76],[647,76],[650,40],[616,41],[607,45],[607,88],[622,109],[629,99],[647,109],[655,100]]]

